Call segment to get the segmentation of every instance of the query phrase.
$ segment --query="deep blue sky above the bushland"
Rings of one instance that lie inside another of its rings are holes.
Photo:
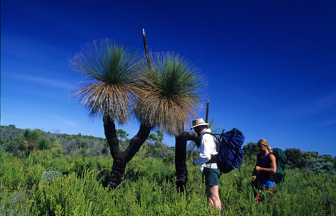
[[[1,125],[104,137],[67,59],[106,37],[143,51],[142,29],[201,69],[209,116],[245,143],[336,155],[335,1],[1,1]]]

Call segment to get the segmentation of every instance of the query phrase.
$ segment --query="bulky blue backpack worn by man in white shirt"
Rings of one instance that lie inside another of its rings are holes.
[[[206,132],[208,133],[208,132]],[[209,133],[211,134],[211,133]],[[242,145],[245,140],[245,136],[238,129],[232,129],[221,134],[211,134],[219,143],[219,152],[217,154],[217,167],[222,173],[228,173],[233,169],[239,169],[242,163],[244,151]],[[220,135],[217,138],[215,135]]]

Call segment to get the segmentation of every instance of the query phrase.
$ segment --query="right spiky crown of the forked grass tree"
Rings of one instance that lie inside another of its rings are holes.
[[[207,84],[198,68],[176,53],[151,55],[151,67],[142,68],[141,94],[135,115],[145,122],[177,135],[196,118]]]

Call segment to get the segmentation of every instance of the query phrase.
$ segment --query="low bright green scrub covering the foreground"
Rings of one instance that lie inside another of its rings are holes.
[[[1,152],[0,215],[218,215],[214,209],[208,210],[199,167],[187,163],[184,194],[175,189],[174,166],[149,157],[133,158],[121,188],[109,192],[103,185],[112,168],[110,157],[53,158],[43,151],[24,160]],[[62,175],[40,181],[49,167]],[[263,201],[256,205],[251,186],[253,167],[242,166],[237,176],[222,174],[221,215],[336,214],[335,174],[287,170],[285,182],[274,192],[263,191]]]

